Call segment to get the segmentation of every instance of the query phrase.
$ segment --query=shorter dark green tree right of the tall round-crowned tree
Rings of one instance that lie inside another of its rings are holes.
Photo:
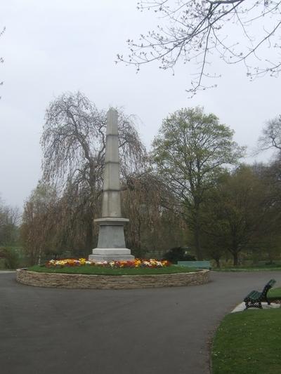
[[[225,175],[204,203],[205,245],[231,253],[233,265],[238,265],[241,251],[258,251],[271,221],[267,195],[266,183],[251,166]]]

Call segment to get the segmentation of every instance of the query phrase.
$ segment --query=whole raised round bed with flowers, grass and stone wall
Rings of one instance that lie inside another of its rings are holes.
[[[155,259],[92,262],[85,258],[68,258],[50,260],[44,267],[18,269],[17,280],[29,286],[55,288],[154,288],[207,283],[209,270],[179,269],[169,261]]]

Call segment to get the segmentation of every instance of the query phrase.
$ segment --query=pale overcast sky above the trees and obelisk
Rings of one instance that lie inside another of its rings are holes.
[[[204,106],[235,130],[235,140],[256,145],[261,128],[280,114],[280,79],[249,82],[244,67],[216,60],[218,88],[188,99],[185,88],[195,66],[176,74],[147,65],[115,65],[126,55],[126,39],[136,39],[156,24],[153,13],[140,13],[136,0],[1,1],[0,29],[0,194],[22,208],[41,175],[39,140],[48,103],[65,91],[81,91],[99,109],[124,107],[141,122],[148,147],[162,119],[181,107]],[[259,156],[259,161],[268,154]],[[247,159],[253,162],[254,159]]]

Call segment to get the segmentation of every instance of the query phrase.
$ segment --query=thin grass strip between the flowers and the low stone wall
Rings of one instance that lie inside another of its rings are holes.
[[[28,270],[32,272],[46,272],[46,273],[63,273],[63,274],[99,274],[99,275],[142,275],[142,274],[174,274],[174,273],[188,273],[194,272],[195,269],[188,267],[161,267],[158,269],[149,269],[139,267],[138,269],[123,268],[123,269],[110,269],[107,267],[98,266],[77,266],[77,267],[41,267],[34,265],[29,267]]]

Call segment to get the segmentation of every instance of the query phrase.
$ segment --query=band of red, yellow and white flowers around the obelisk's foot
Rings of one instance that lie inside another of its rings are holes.
[[[155,260],[153,258],[150,258],[150,260],[143,260],[136,258],[133,261],[101,261],[101,262],[93,262],[88,261],[86,258],[67,258],[65,260],[50,260],[46,263],[46,267],[76,267],[76,266],[98,266],[98,267],[109,267],[114,269],[122,269],[129,267],[131,269],[137,269],[137,268],[150,268],[150,269],[156,269],[161,267],[168,267],[171,265],[171,262],[166,260]]]

